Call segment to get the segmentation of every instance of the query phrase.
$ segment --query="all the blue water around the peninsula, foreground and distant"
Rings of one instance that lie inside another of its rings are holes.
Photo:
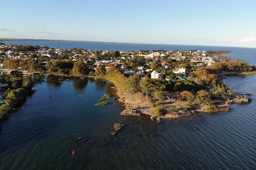
[[[10,41],[92,50],[229,50],[226,55],[256,65],[256,49],[216,46],[96,42]],[[256,75],[225,76],[234,91],[253,96],[230,112],[200,113],[152,122],[121,116],[110,82],[84,77],[48,77],[0,124],[0,169],[256,169]],[[59,80],[63,81],[60,83]],[[109,105],[96,107],[111,94]],[[51,97],[50,97],[51,96]],[[115,136],[114,123],[125,127]],[[75,150],[75,155],[72,151]]]

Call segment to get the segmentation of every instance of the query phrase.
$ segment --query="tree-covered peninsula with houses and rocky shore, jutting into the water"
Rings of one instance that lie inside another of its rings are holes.
[[[50,49],[46,46],[6,46],[3,43],[0,46],[0,52],[2,56],[5,56],[3,67],[7,70],[10,68],[12,70],[27,70],[46,76],[52,74],[67,77],[102,78],[114,84],[113,88],[117,91],[118,96],[115,97],[125,107],[123,115],[146,114],[153,116],[152,120],[155,120],[154,117],[176,119],[197,112],[225,112],[230,111],[231,103],[249,103],[250,97],[244,97],[241,94],[234,95],[233,88],[222,82],[225,78],[217,75],[223,76],[239,72],[244,73],[242,75],[247,75],[256,72],[255,66],[250,66],[244,61],[214,56],[228,54],[230,51],[140,50],[119,52]],[[12,55],[7,55],[8,51],[12,51]],[[50,57],[42,54],[46,51]],[[16,54],[15,58],[13,58],[14,54]],[[23,58],[23,54],[27,54],[27,58]],[[45,65],[42,66],[42,63]],[[22,80],[29,81],[29,78]],[[63,81],[65,80],[59,80],[59,82]],[[3,82],[4,80],[0,80],[0,84]],[[26,82],[24,83],[26,84]],[[29,82],[29,84],[31,83]],[[22,82],[21,86],[12,90],[19,88],[26,90],[22,91],[21,96],[16,97],[18,99],[29,92],[32,87],[27,88],[23,86]],[[13,108],[18,101],[18,99],[10,97],[16,91],[10,93],[8,88],[4,87],[4,89],[7,92],[7,97],[5,104],[1,105],[1,109],[10,111],[10,108]],[[95,106],[108,105],[109,101],[103,101],[106,98],[109,96],[104,95],[99,98],[102,102],[96,103]],[[7,109],[7,105],[11,107]]]

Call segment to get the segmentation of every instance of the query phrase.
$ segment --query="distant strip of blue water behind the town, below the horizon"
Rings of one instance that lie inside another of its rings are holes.
[[[195,45],[164,45],[164,44],[136,44],[136,43],[109,43],[109,42],[69,42],[69,41],[4,41],[6,45],[38,45],[50,48],[83,48],[87,50],[107,50],[107,51],[139,51],[139,50],[201,50],[218,51],[227,50],[233,53],[232,58],[244,59],[250,63],[256,61],[256,48],[244,47],[221,47],[221,46],[195,46]],[[246,57],[247,55],[253,57]],[[225,55],[229,57],[230,55]]]

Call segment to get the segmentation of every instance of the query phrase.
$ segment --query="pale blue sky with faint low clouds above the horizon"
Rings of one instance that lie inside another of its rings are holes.
[[[256,0],[0,0],[0,38],[256,47]]]

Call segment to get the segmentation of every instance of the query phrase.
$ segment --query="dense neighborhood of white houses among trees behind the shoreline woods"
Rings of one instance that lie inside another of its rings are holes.
[[[189,78],[198,67],[212,66],[219,61],[216,55],[207,55],[206,51],[200,50],[93,51],[1,43],[0,68],[22,70],[21,67],[4,66],[4,59],[32,60],[40,63],[41,68],[39,70],[42,71],[48,70],[46,65],[49,61],[82,61],[93,72],[98,66],[103,66],[105,69],[114,66],[127,77],[139,74],[141,78],[145,76],[149,78],[167,77],[166,80],[173,81],[180,76]]]

